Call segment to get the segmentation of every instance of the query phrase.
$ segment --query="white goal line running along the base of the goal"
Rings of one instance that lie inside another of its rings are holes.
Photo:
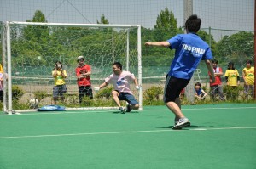
[[[230,107],[230,108],[217,108],[217,107],[212,107],[212,108],[185,108],[185,109],[182,109],[182,110],[236,110],[236,109],[256,109],[256,107]],[[23,113],[15,113],[15,115],[57,115],[57,114],[84,114],[84,113],[95,113],[95,112],[113,112],[113,111],[119,111],[118,109],[116,110],[78,110],[77,112],[70,112],[70,111],[41,111],[41,112],[38,112],[38,111],[35,111],[35,113],[26,113],[26,114],[23,114]],[[169,111],[166,109],[162,109],[162,110],[145,110],[145,111]],[[143,112],[143,111],[142,111]],[[7,116],[8,114],[3,114],[3,116]],[[2,116],[2,115],[0,115]]]

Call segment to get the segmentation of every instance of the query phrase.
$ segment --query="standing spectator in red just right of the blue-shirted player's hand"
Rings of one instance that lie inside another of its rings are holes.
[[[215,82],[212,82],[211,73],[208,72],[208,75],[210,76],[211,97],[213,100],[216,100],[216,94],[218,94],[218,98],[220,100],[224,100],[223,87],[221,84],[221,77],[220,77],[223,75],[223,70],[221,67],[218,66],[217,59],[212,60],[212,67],[213,67],[213,72],[215,76]]]

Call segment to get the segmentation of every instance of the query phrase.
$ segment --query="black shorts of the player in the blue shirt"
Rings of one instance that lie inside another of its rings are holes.
[[[164,90],[164,102],[175,102],[179,94],[189,84],[190,79],[180,79],[173,76],[166,76],[166,86]]]

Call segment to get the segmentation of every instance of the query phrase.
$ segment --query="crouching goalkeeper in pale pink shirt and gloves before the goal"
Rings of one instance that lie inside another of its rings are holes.
[[[122,65],[119,62],[114,62],[112,69],[113,74],[108,76],[105,82],[94,89],[98,91],[103,87],[107,87],[109,83],[112,83],[114,88],[112,91],[113,100],[119,106],[121,113],[138,110],[139,104],[130,89],[131,80],[134,81],[137,90],[140,88],[137,83],[137,78],[130,71],[123,71]],[[121,106],[120,100],[128,102],[126,108]]]

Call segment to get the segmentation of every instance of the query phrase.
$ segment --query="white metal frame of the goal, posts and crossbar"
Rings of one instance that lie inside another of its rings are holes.
[[[4,96],[6,96],[6,101],[3,103],[3,110],[8,113],[9,115],[13,114],[14,112],[22,112],[25,110],[13,110],[12,105],[12,65],[11,65],[11,35],[10,35],[10,25],[41,25],[41,26],[65,26],[65,27],[95,27],[95,28],[137,28],[137,69],[138,75],[137,80],[140,86],[138,91],[138,102],[139,102],[139,110],[143,110],[143,88],[142,88],[142,42],[141,42],[141,25],[103,25],[103,24],[71,24],[71,23],[39,23],[39,22],[16,22],[16,21],[7,21],[4,24],[3,31],[3,68],[4,72],[8,74],[8,82],[7,83],[7,90],[4,90]],[[128,31],[129,34],[129,31]],[[126,61],[126,68],[129,70],[129,35],[127,36],[127,61]],[[6,66],[7,65],[7,66]],[[4,86],[6,87],[6,86]],[[74,110],[78,108],[70,108],[70,110]],[[93,110],[92,107],[89,108]],[[99,108],[95,108],[99,109]],[[106,108],[103,108],[106,109]],[[112,108],[113,109],[113,108]],[[69,109],[67,109],[69,110]],[[85,110],[83,108],[83,110]],[[35,110],[26,110],[27,111],[35,111]]]

